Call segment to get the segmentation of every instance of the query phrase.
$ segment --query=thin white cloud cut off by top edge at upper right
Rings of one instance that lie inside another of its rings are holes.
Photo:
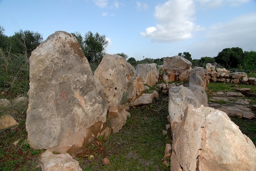
[[[196,0],[197,2],[209,6],[209,7],[218,7],[218,6],[239,6],[242,3],[247,3],[250,0]]]

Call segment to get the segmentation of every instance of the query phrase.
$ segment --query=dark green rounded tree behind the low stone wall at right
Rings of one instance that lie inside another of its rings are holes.
[[[244,58],[243,49],[241,48],[225,48],[218,53],[215,61],[227,68],[236,68],[242,63]]]

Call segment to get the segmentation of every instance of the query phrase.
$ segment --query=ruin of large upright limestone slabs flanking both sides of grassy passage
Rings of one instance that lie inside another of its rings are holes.
[[[130,106],[158,97],[157,91],[144,94],[144,84],[159,79],[156,64],[140,64],[135,70],[123,57],[107,54],[93,75],[76,38],[64,31],[41,43],[29,63],[27,140],[31,148],[47,149],[41,156],[43,171],[81,170],[74,157],[99,135],[118,132]],[[227,114],[207,107],[207,70],[191,66],[180,56],[164,58],[163,80],[189,83],[157,85],[169,93],[173,144],[166,145],[165,157],[171,157],[171,170],[256,168],[252,141]],[[239,148],[243,150],[237,152]]]

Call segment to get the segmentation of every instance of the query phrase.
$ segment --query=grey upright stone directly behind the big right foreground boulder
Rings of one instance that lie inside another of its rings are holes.
[[[193,92],[183,85],[169,89],[168,111],[172,132],[175,129],[175,125],[182,120],[187,104],[192,104],[197,107],[202,105]]]

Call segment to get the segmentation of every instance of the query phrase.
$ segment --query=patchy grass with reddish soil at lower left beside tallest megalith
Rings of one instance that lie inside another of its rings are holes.
[[[11,115],[20,123],[17,127],[0,130],[0,170],[1,171],[40,171],[38,157],[42,151],[29,148],[26,141],[25,128],[26,108],[22,105],[11,105],[3,110],[12,112]],[[16,145],[15,145],[16,143]]]

